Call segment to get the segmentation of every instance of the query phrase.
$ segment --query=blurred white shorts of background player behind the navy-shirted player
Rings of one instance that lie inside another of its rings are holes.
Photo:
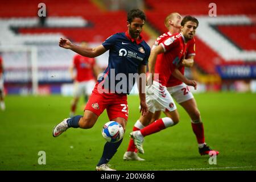
[[[75,82],[74,96],[80,97],[83,95],[90,96],[95,86],[94,80]]]

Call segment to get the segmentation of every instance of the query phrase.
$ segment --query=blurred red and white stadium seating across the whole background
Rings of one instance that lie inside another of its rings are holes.
[[[71,81],[66,69],[74,53],[56,47],[60,37],[66,37],[73,42],[86,40],[97,45],[115,32],[126,31],[126,23],[123,21],[126,19],[125,10],[109,11],[95,2],[44,0],[47,18],[42,26],[38,17],[40,9],[38,5],[41,1],[1,1],[0,45],[36,46],[39,82]],[[217,5],[217,17],[208,15],[209,3],[211,1],[208,0],[145,0],[144,11],[151,29],[159,35],[166,32],[163,22],[169,13],[195,15],[200,22],[196,35],[196,68],[199,68],[201,73],[210,74],[209,80],[219,82],[220,78],[212,79],[212,77],[221,76],[220,70],[226,70],[218,68],[221,65],[256,64],[256,3],[253,0],[242,2],[216,0],[214,3]],[[142,35],[148,42],[154,39],[148,31],[143,31]],[[3,55],[6,60],[6,70],[10,71],[10,74],[6,73],[7,82],[14,80],[14,73],[11,71],[15,64],[19,65],[17,61],[14,62],[18,55],[20,56],[20,53],[14,54],[13,57],[8,53]],[[103,58],[106,59],[106,56]],[[105,67],[105,64],[101,66]],[[49,79],[54,73],[58,73],[59,80],[58,77]],[[19,80],[21,77],[17,75],[15,78]],[[207,78],[197,80],[207,80]]]

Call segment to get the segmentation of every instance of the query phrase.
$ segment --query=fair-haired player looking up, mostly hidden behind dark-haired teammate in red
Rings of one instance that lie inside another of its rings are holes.
[[[167,36],[171,36],[172,34],[175,34],[176,32],[179,32],[180,31],[180,22],[181,22],[181,16],[179,13],[172,13],[170,15],[167,16],[166,20],[165,20],[165,25],[166,27],[168,28],[168,32],[159,36],[159,38],[156,40],[154,47],[158,46],[159,43],[161,42],[162,39],[164,39],[165,37]],[[186,67],[192,67],[193,65],[193,57],[195,56],[195,39],[191,39],[188,41],[187,43],[187,52],[185,53],[185,59],[183,59],[180,63],[180,67],[179,67],[179,71],[184,75],[184,66]],[[174,88],[170,88],[170,85],[178,85]],[[178,80],[177,78],[175,78],[174,76],[170,76],[168,81],[167,81],[167,90],[168,92],[171,94],[172,97],[174,97],[174,99],[182,105],[181,102],[184,102],[184,101],[193,101],[193,95],[191,92],[189,92],[188,88],[187,88],[187,85],[185,85],[182,81]],[[179,87],[179,88],[178,88]],[[186,93],[186,94],[184,94]],[[186,103],[185,103],[186,104]],[[189,113],[189,115],[191,115],[191,113],[194,111],[198,111],[197,107],[195,107],[196,105],[192,105],[191,104],[191,107],[190,110],[189,110],[189,106],[187,107],[187,112]],[[183,105],[182,105],[183,106]],[[185,108],[185,107],[184,107]],[[192,113],[193,114],[193,113]],[[196,113],[197,114],[197,113]],[[154,115],[152,115],[152,119],[151,121],[155,121],[157,120],[158,118],[160,117],[160,110],[156,110]],[[199,115],[200,117],[200,115]],[[133,131],[136,131],[136,130],[141,130],[144,128],[144,126],[147,126],[148,125],[148,122],[149,122],[149,119],[143,119],[143,118],[140,118],[134,125],[134,129]],[[196,137],[197,137],[197,141],[198,142],[201,142],[202,140],[204,140],[204,131],[202,131],[201,129],[201,124],[199,125],[196,125],[196,126],[193,126],[195,124],[192,123],[192,127],[193,127],[193,131],[194,133],[196,134]],[[202,147],[201,147],[201,146]],[[205,143],[199,143],[199,147],[201,147],[199,149],[199,152],[201,155],[204,155],[204,154],[208,154],[210,150],[210,148],[205,144]],[[143,160],[139,157],[135,158],[134,156],[137,156],[137,155],[134,155],[134,152],[135,152],[135,147],[134,147],[134,143],[133,143],[133,140],[130,140],[130,143],[129,143],[129,147],[127,149],[127,152],[125,153],[125,155],[123,156],[123,159],[128,159],[128,160]],[[216,154],[218,154],[218,151],[214,151],[216,152]],[[129,156],[130,154],[130,156]],[[133,155],[131,155],[133,154]]]

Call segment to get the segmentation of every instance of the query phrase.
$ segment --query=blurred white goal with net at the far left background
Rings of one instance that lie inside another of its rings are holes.
[[[18,84],[18,94],[38,94],[38,48],[35,46],[0,46],[5,83]]]

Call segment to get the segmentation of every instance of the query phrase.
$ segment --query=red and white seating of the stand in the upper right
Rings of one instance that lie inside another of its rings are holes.
[[[237,0],[214,1],[217,5],[217,18],[208,16],[210,8],[205,7],[208,7],[209,3],[211,2],[203,0],[163,0],[161,3],[146,0],[146,15],[159,34],[166,31],[164,18],[171,12],[195,15],[200,22],[196,36],[195,61],[205,73],[216,74],[216,65],[224,63],[256,63],[256,3],[251,0],[242,3]]]

